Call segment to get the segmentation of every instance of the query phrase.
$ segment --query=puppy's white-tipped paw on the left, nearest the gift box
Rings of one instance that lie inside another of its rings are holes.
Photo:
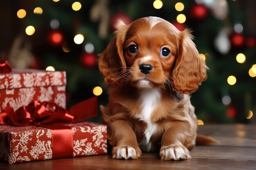
[[[112,150],[112,158],[114,159],[138,159],[140,156],[139,147],[116,146]]]

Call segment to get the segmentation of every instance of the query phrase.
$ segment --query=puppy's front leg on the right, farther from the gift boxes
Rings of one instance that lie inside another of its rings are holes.
[[[177,161],[191,158],[189,150],[185,146],[192,145],[195,135],[192,135],[191,132],[196,131],[196,128],[193,130],[193,127],[185,122],[175,122],[167,127],[162,136],[162,146],[160,149],[161,160]]]

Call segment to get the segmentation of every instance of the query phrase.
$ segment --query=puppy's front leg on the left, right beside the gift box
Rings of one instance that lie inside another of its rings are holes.
[[[128,121],[115,120],[108,124],[108,140],[112,150],[112,158],[138,159],[141,156],[136,135]]]

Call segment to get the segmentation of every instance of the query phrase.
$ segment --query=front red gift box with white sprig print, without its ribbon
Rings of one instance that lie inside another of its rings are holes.
[[[37,126],[0,126],[0,160],[7,163],[55,159],[62,157],[79,157],[85,155],[99,155],[107,153],[106,125],[79,122],[65,124],[71,127],[72,146],[71,155],[64,142],[54,144],[51,129]],[[58,147],[64,155],[54,156]],[[59,146],[62,145],[62,146]],[[54,151],[55,150],[55,151]]]

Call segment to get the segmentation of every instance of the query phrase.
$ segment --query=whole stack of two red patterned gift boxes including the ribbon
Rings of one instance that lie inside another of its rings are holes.
[[[0,73],[0,160],[17,163],[107,153],[106,126],[83,121],[84,115],[97,112],[97,98],[73,107],[70,113],[64,109],[65,84],[66,74],[63,71],[13,70]],[[55,110],[42,119],[38,118],[34,110],[38,114],[47,104]],[[33,111],[32,105],[35,105]],[[89,111],[80,117],[72,117],[81,110]],[[59,111],[64,113],[61,115]],[[61,121],[58,118],[52,123],[45,120],[57,112],[61,116],[68,115],[68,119]],[[10,117],[13,121],[9,120]],[[43,121],[38,123],[38,120]],[[53,137],[59,129],[63,130],[63,137]],[[69,146],[65,146],[66,143]]]

